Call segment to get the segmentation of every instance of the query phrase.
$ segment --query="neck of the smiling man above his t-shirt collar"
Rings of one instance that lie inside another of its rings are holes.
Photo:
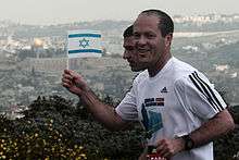
[[[162,57],[159,59],[159,61],[155,63],[155,65],[151,69],[148,69],[149,76],[153,77],[155,76],[167,63],[167,61],[172,58],[171,52],[162,54]]]

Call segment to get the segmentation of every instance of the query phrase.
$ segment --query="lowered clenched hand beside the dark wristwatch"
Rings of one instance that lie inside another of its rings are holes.
[[[171,158],[184,150],[185,141],[181,138],[161,139],[156,143],[156,152],[163,158]]]

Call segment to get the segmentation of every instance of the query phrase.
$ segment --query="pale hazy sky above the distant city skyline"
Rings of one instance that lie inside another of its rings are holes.
[[[59,24],[93,20],[134,20],[144,9],[171,15],[239,13],[239,0],[0,0],[0,20]]]

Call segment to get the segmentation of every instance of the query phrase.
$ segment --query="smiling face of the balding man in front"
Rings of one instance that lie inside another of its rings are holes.
[[[154,69],[165,53],[165,38],[159,29],[159,17],[140,14],[134,24],[134,45],[137,54],[137,69]]]

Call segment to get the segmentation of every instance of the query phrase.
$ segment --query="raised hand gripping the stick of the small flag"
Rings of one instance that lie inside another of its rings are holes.
[[[78,96],[81,96],[83,91],[89,90],[87,83],[83,79],[81,75],[72,70],[64,70],[62,75],[62,86]]]

